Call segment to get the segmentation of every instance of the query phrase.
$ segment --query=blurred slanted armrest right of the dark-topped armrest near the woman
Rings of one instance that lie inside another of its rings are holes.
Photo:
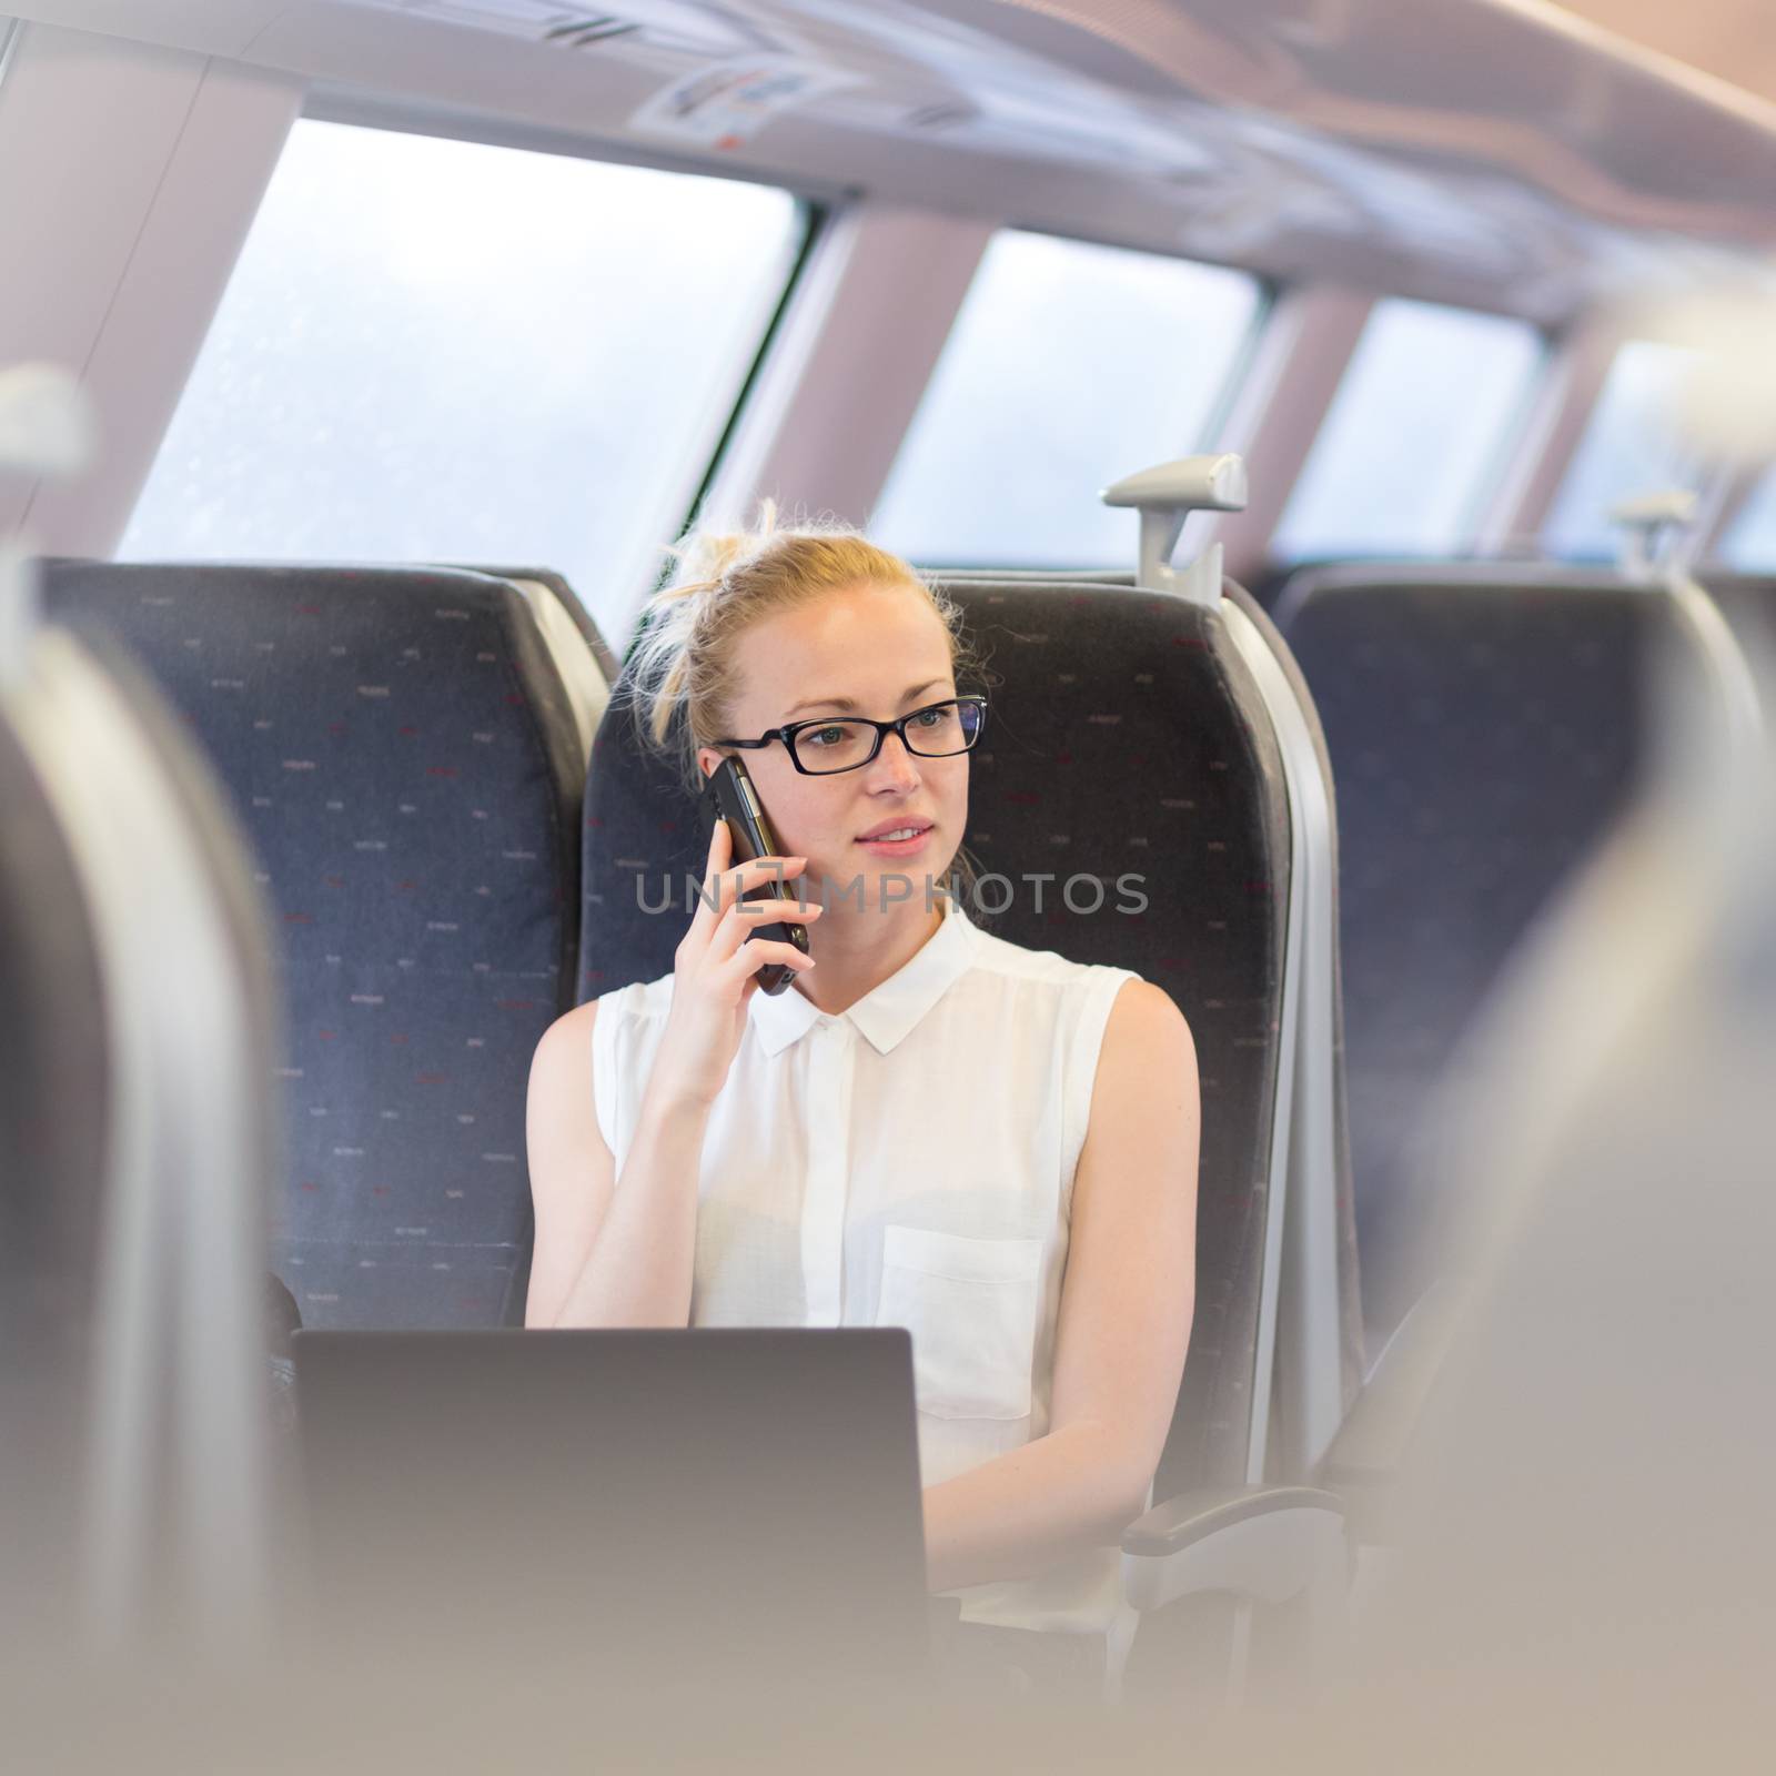
[[[1385,1515],[1424,1401],[1460,1323],[1463,1291],[1433,1282],[1375,1359],[1357,1403],[1320,1462],[1320,1485],[1344,1501],[1355,1542],[1387,1540]]]

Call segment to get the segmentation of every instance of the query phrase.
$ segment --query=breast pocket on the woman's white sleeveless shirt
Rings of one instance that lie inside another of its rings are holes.
[[[945,1419],[1030,1412],[1041,1263],[1041,1240],[883,1229],[876,1323],[913,1334],[920,1412]]]

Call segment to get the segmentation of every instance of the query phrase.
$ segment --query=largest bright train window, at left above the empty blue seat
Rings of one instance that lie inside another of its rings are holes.
[[[732,179],[304,119],[119,556],[554,567],[620,632],[806,227]]]

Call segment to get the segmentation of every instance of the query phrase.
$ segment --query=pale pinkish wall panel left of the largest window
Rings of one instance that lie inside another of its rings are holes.
[[[108,554],[302,105],[302,82],[27,25],[0,85],[0,362],[73,369],[99,460],[0,488],[0,529]]]

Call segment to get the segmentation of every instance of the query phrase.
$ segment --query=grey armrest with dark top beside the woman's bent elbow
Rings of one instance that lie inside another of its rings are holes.
[[[1156,1504],[1122,1531],[1135,1609],[1218,1591],[1280,1604],[1344,1570],[1344,1508],[1318,1487],[1215,1487]]]

